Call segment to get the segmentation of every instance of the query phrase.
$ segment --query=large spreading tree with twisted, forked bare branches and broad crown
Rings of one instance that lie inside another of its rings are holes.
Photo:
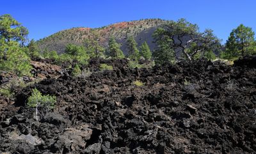
[[[173,49],[170,50],[173,52],[169,54],[170,58],[174,55],[177,60],[193,60],[200,53],[204,56],[205,52],[220,45],[220,40],[212,34],[211,30],[207,29],[204,32],[198,30],[196,24],[191,24],[182,18],[177,22],[170,21],[164,27],[157,29],[154,32],[154,38],[159,46],[164,48],[170,46]],[[164,57],[160,59],[163,60]]]

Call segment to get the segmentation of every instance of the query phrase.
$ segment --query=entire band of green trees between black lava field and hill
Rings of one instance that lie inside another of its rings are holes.
[[[124,59],[129,58],[130,67],[144,67],[140,60],[150,60],[154,64],[177,62],[180,60],[195,60],[207,58],[235,60],[244,55],[256,54],[255,33],[252,28],[243,24],[233,29],[227,43],[221,45],[212,30],[199,31],[196,24],[185,19],[170,21],[159,27],[153,34],[156,49],[150,51],[147,42],[141,46],[132,36],[127,38],[128,54],[124,55],[115,36],[108,41],[108,48],[100,46],[99,35],[95,32],[81,45],[68,44],[65,52],[40,51],[36,42],[28,42],[28,29],[23,27],[10,15],[0,16],[0,69],[10,71],[19,76],[29,75],[31,59],[54,59],[56,64],[62,62],[77,62],[76,67],[86,66],[92,58]],[[26,45],[28,43],[28,45]]]

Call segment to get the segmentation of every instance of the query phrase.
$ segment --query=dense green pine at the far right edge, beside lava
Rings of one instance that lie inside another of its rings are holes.
[[[256,53],[254,35],[252,28],[245,27],[243,24],[233,29],[228,37],[226,50],[222,57],[234,60],[244,55],[254,55]]]

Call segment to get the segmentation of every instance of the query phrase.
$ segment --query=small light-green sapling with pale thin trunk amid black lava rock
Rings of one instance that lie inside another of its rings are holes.
[[[38,121],[38,108],[46,110],[53,109],[56,103],[56,96],[42,95],[42,93],[34,88],[31,96],[28,98],[27,106],[36,109],[36,120]]]

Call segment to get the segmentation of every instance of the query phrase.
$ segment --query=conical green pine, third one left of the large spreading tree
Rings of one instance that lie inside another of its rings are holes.
[[[113,59],[124,59],[124,53],[113,36],[110,37],[108,42],[108,54],[113,57]]]

